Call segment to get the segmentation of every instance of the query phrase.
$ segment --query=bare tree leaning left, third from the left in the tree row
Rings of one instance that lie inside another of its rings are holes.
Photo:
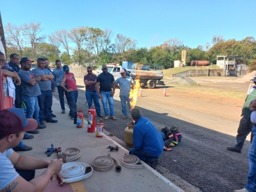
[[[69,47],[69,43],[70,43],[70,39],[68,37],[68,32],[65,29],[62,30],[56,30],[56,32],[54,32],[53,34],[49,35],[49,38],[51,38],[51,42],[59,42],[61,44],[61,46],[65,49],[67,55],[69,55],[69,51],[70,51],[70,47]]]

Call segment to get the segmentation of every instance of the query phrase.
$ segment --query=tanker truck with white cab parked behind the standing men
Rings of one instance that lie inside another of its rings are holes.
[[[112,73],[114,80],[121,77],[120,71],[123,69],[120,65],[117,64],[107,64],[108,72]],[[137,69],[126,69],[127,76],[130,78],[135,78],[139,76],[141,87],[148,87],[148,89],[154,89],[156,85],[164,85],[162,78],[164,74],[161,71],[151,71],[151,70],[137,70]],[[101,67],[96,69],[97,75],[102,72]]]

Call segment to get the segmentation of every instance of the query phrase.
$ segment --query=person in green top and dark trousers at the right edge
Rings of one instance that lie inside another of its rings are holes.
[[[254,84],[256,85],[256,76],[251,79]],[[244,147],[244,141],[246,141],[246,137],[252,131],[253,123],[250,121],[250,114],[252,113],[249,109],[249,104],[251,101],[256,99],[256,87],[253,86],[244,103],[241,116],[243,116],[239,123],[239,128],[237,130],[237,143],[234,144],[232,147],[228,147],[227,150],[232,152],[241,152],[242,148]],[[253,141],[253,134],[250,134],[250,142]]]

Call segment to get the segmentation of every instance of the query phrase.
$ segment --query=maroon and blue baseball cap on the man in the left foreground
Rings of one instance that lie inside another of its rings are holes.
[[[0,136],[31,131],[37,128],[35,119],[26,119],[23,109],[8,108],[0,111]]]

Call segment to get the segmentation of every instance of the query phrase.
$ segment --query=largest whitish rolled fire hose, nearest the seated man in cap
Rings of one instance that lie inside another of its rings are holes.
[[[85,180],[92,175],[93,168],[82,162],[69,162],[62,165],[60,175],[64,183]]]

